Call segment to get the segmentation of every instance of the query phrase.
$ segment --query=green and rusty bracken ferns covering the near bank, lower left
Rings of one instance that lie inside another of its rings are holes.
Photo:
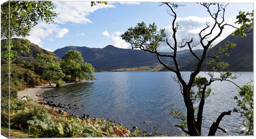
[[[8,102],[2,100],[2,122],[8,123]],[[156,133],[132,131],[113,120],[81,118],[65,111],[45,108],[32,100],[11,99],[11,138],[36,137],[152,137]],[[4,121],[3,121],[4,120]],[[2,135],[8,134],[8,126],[2,125]]]

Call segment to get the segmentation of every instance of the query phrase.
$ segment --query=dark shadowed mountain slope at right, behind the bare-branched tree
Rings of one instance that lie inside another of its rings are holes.
[[[217,51],[217,46],[225,46],[225,42],[230,41],[237,44],[235,49],[230,52],[230,56],[220,58],[220,61],[228,62],[230,66],[227,70],[230,71],[253,71],[253,32],[247,33],[247,37],[236,37],[231,34],[225,39],[216,44],[211,53]],[[208,59],[206,59],[208,61]],[[202,65],[202,71],[210,70],[206,65],[206,60]],[[183,71],[192,71],[196,65],[196,61],[187,64],[183,67]]]

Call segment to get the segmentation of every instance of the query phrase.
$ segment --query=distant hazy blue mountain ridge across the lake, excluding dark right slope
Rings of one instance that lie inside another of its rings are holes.
[[[88,48],[85,46],[66,46],[57,49],[54,53],[57,56],[62,57],[68,50],[77,50],[81,52],[86,62],[91,63],[96,69],[102,69],[104,71],[122,68],[159,66],[160,64],[156,54],[135,49],[120,49],[112,45],[108,45],[102,49]],[[197,50],[197,52],[201,52],[201,50]],[[164,54],[172,53],[173,52]],[[178,59],[182,59],[183,56],[188,56],[189,53],[189,50],[178,51]],[[193,59],[191,56],[189,58]],[[169,65],[173,64],[171,58],[162,58],[162,60]]]

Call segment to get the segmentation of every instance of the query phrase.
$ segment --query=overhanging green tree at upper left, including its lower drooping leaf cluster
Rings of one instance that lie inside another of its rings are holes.
[[[38,21],[46,23],[54,22],[57,13],[51,1],[8,1],[1,5],[1,38],[10,39],[1,41],[1,58],[8,58],[10,45],[10,58],[17,58],[18,53],[30,50],[30,44],[26,36],[31,29],[38,24]],[[9,12],[10,10],[10,12]],[[10,15],[10,18],[9,18]],[[10,21],[10,22],[9,22]],[[10,24],[10,30],[9,30]],[[18,41],[13,41],[13,37],[21,37]]]

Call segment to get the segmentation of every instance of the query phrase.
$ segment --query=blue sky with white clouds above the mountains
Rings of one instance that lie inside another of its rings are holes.
[[[32,43],[43,49],[55,51],[65,46],[86,46],[104,48],[108,44],[119,48],[129,49],[120,35],[128,28],[144,21],[147,25],[155,22],[157,27],[165,28],[171,39],[171,23],[173,17],[168,15],[165,5],[159,2],[109,2],[108,5],[91,7],[85,1],[53,1],[59,13],[56,23],[39,22],[27,37]],[[185,37],[198,39],[199,31],[206,27],[206,21],[213,20],[206,8],[194,2],[179,3],[184,5],[175,9],[179,29],[177,39]],[[225,3],[227,4],[227,3]],[[216,8],[212,10],[216,11]],[[239,11],[252,12],[253,3],[230,3],[225,11],[225,23],[235,25],[235,17]],[[237,26],[237,25],[236,25]],[[226,27],[223,34],[213,44],[230,35],[232,27]],[[214,35],[214,32],[213,32]],[[200,49],[200,48],[198,48]],[[166,43],[161,43],[159,51],[171,51]]]

